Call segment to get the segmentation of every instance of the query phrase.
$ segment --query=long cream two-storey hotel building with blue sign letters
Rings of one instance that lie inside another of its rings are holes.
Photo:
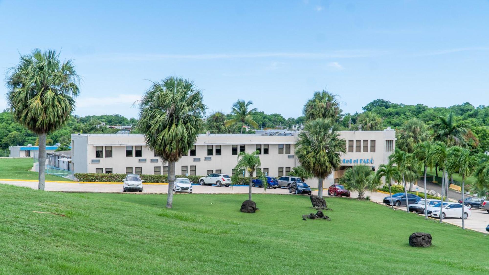
[[[259,132],[259,131],[258,131]],[[287,176],[299,166],[294,155],[298,132],[258,134],[201,134],[194,147],[176,163],[177,175],[232,175],[239,152],[260,152],[261,169],[269,176]],[[325,181],[336,182],[348,166],[366,164],[378,166],[388,162],[394,151],[396,132],[341,131],[346,140],[346,153],[341,156],[342,167]],[[155,156],[144,142],[142,134],[72,134],[73,173],[135,173],[168,174],[168,163]],[[317,186],[316,180],[307,181]]]

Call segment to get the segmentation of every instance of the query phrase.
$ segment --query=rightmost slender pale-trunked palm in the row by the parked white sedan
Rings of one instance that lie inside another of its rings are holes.
[[[464,187],[465,187],[465,179],[472,174],[475,166],[477,165],[477,160],[472,154],[470,150],[462,149],[460,150],[452,150],[450,157],[447,161],[447,166],[451,167],[454,170],[457,170],[458,173],[462,176],[462,202],[464,202]],[[441,213],[440,213],[441,215]],[[462,204],[462,229],[465,229],[465,205]]]

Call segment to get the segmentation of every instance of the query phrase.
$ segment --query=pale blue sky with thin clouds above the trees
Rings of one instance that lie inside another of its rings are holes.
[[[0,71],[61,49],[83,76],[77,115],[136,117],[168,75],[193,80],[209,114],[245,99],[297,117],[325,88],[351,113],[377,98],[488,105],[488,14],[482,0],[0,0]]]

